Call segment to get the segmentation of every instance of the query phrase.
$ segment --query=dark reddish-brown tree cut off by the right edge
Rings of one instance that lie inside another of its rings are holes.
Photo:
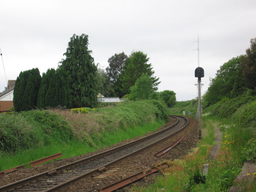
[[[256,87],[256,38],[250,40],[250,48],[246,49],[246,56],[242,58],[243,74],[247,88]]]

